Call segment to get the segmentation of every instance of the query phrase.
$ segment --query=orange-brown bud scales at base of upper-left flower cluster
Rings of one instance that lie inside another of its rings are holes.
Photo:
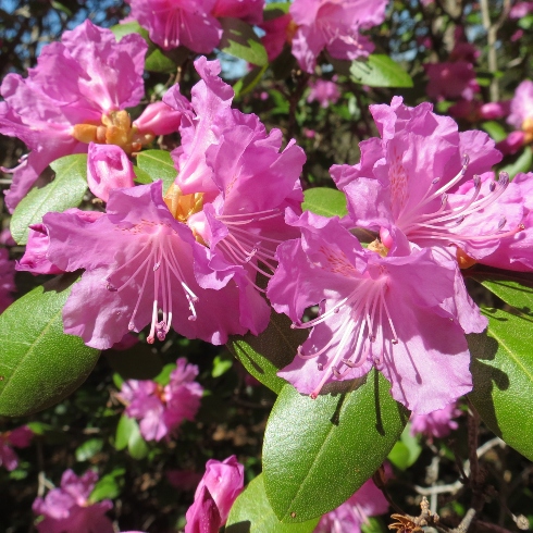
[[[124,110],[103,114],[100,124],[76,124],[72,129],[72,136],[80,142],[116,145],[128,154],[139,151],[156,137],[150,133],[140,135]]]

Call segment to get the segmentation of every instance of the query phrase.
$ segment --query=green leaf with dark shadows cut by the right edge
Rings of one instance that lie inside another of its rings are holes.
[[[530,294],[531,297],[531,294]],[[533,313],[488,310],[487,334],[468,335],[473,392],[469,395],[486,425],[533,460]]]

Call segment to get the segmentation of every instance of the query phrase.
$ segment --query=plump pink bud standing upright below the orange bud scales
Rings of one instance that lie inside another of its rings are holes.
[[[108,201],[112,189],[133,187],[134,178],[133,164],[121,147],[89,144],[87,183],[95,196]]]

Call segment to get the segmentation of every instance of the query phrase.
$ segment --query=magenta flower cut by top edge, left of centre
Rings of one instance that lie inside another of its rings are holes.
[[[211,14],[216,0],[128,0],[131,17],[146,27],[164,50],[185,46],[210,53],[219,45],[222,27]]]

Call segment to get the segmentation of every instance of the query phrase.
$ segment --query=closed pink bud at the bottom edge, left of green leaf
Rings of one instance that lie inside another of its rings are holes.
[[[196,489],[195,503],[187,511],[185,533],[216,533],[226,523],[233,503],[243,492],[244,483],[245,468],[235,456],[222,462],[210,459]]]

